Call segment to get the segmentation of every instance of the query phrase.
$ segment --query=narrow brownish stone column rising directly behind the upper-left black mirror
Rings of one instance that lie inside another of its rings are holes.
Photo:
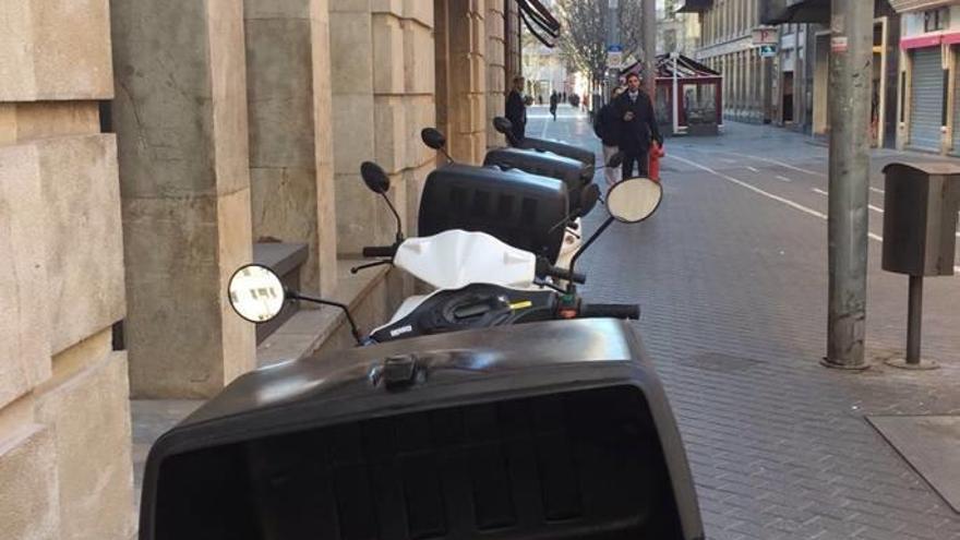
[[[478,164],[487,149],[487,25],[484,0],[447,2],[449,152]]]

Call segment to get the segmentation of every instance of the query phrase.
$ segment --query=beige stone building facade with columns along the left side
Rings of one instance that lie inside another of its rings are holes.
[[[382,321],[411,285],[347,272],[395,227],[360,163],[415,233],[420,130],[502,144],[518,37],[514,0],[0,3],[0,536],[132,537],[129,399],[256,367],[226,285],[257,245],[305,245],[304,291]],[[349,344],[323,313],[277,332]]]

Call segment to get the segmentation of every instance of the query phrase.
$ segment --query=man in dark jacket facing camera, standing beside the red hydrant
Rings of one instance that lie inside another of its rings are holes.
[[[626,77],[626,92],[613,101],[613,110],[620,120],[620,149],[624,154],[623,178],[634,176],[634,164],[637,176],[649,175],[650,140],[663,146],[663,139],[657,128],[653,103],[640,89],[640,77],[631,73]]]

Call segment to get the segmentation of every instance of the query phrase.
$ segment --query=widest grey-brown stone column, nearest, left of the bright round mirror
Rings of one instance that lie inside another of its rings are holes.
[[[227,301],[251,259],[243,7],[112,4],[131,391],[209,397],[254,367]]]

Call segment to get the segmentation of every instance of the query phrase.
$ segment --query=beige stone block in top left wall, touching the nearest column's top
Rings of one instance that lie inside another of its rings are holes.
[[[31,0],[36,94],[31,100],[110,99],[109,0]]]

